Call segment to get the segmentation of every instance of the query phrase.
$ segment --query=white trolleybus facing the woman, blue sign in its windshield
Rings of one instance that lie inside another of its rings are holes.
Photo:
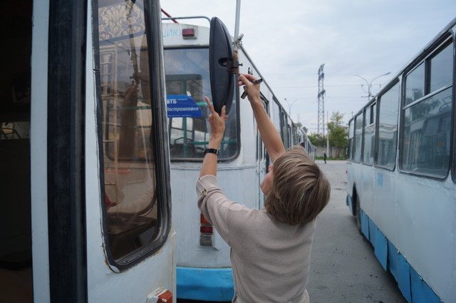
[[[195,17],[172,20],[189,23]],[[204,19],[204,17],[198,17]],[[209,20],[209,19],[207,19]],[[190,22],[191,23],[191,22]],[[177,232],[177,297],[205,301],[230,301],[234,295],[229,246],[197,208],[195,181],[209,141],[209,110],[204,96],[211,96],[209,75],[209,28],[164,21],[168,133],[170,135],[172,223]],[[261,76],[244,48],[238,51],[240,73]],[[262,207],[259,183],[269,160],[259,137],[252,108],[233,87],[232,106],[220,148],[217,180],[227,196],[247,207]],[[261,98],[284,145],[304,140],[296,124],[280,105],[267,81]],[[182,106],[182,105],[189,105]],[[195,111],[190,110],[195,108]],[[175,109],[177,108],[177,109]],[[309,143],[307,143],[309,145]],[[310,145],[309,145],[310,146]]]

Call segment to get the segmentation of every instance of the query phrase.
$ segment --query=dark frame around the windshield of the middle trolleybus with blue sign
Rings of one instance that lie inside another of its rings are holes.
[[[193,49],[193,48],[207,48],[209,49],[209,46],[166,46],[163,48],[163,52],[167,51],[168,49]],[[209,58],[208,58],[209,60]],[[166,81],[166,75],[165,75],[165,81]],[[209,80],[210,81],[210,80]],[[209,88],[210,91],[210,88]],[[166,92],[165,92],[166,93]],[[241,151],[241,111],[240,111],[240,101],[239,101],[239,86],[234,86],[234,96],[236,96],[236,135],[237,135],[237,149],[236,153],[234,153],[231,157],[229,158],[217,158],[218,163],[229,163],[234,160],[236,160]],[[212,98],[212,91],[211,91],[211,98]],[[167,129],[168,126],[167,126]],[[203,158],[171,158],[170,161],[172,163],[177,163],[177,162],[192,162],[192,163],[202,163]]]

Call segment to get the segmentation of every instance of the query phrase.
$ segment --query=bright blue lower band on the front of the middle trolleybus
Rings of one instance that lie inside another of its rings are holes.
[[[177,267],[177,298],[231,301],[234,297],[231,268]]]

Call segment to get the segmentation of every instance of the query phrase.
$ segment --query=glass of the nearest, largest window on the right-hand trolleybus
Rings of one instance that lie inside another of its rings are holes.
[[[445,178],[450,163],[451,113],[452,113],[452,58],[453,44],[443,46],[435,56],[426,59],[429,77],[422,77],[427,95],[418,102],[405,99],[404,127],[401,148],[401,168],[412,173]],[[432,66],[446,66],[432,68]],[[413,78],[413,86],[408,85]],[[427,83],[425,83],[427,81]],[[415,90],[418,84],[415,71],[405,81],[405,91]],[[421,84],[419,84],[421,86]],[[430,91],[430,90],[433,91]]]

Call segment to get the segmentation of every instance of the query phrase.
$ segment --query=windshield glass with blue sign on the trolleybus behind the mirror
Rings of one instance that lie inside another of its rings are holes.
[[[204,96],[211,98],[209,48],[166,49],[165,78],[171,160],[202,160],[203,150],[210,138],[209,109],[204,101]],[[190,104],[196,111],[185,111],[183,106],[171,108],[170,103],[181,101],[186,106]],[[237,154],[237,134],[237,104],[234,100],[219,159],[227,160]]]

